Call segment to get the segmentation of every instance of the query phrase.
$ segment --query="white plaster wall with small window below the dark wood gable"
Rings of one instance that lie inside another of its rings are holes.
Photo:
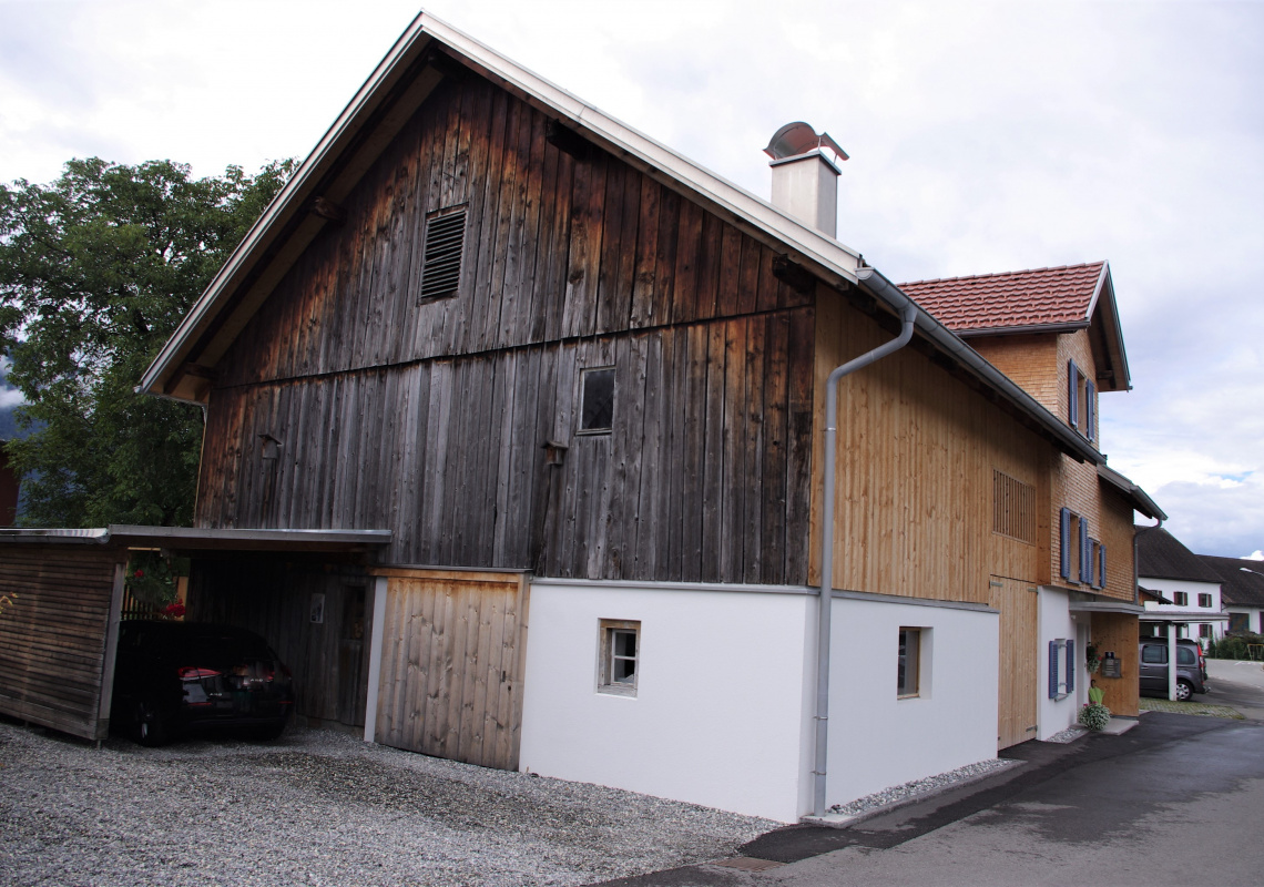
[[[798,820],[814,605],[774,590],[535,581],[520,767]],[[602,619],[641,623],[635,697],[598,692]]]

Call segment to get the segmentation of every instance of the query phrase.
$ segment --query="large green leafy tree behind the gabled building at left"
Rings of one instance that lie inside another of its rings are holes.
[[[293,169],[190,178],[169,160],[71,160],[0,184],[0,347],[27,404],[9,456],[28,526],[188,524],[197,407],[140,375]]]

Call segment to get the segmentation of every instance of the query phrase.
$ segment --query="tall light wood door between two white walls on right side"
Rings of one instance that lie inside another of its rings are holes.
[[[996,748],[1036,737],[1036,620],[1040,596],[1035,582],[992,576],[990,603],[1000,617],[1000,681]]]

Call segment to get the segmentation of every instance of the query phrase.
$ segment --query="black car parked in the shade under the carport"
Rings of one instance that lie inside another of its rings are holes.
[[[253,632],[140,619],[119,627],[110,720],[143,745],[222,728],[274,739],[293,704],[289,670]]]

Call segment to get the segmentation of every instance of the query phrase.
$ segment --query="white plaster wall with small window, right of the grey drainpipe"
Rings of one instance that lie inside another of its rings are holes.
[[[995,610],[837,595],[833,608],[828,804],[996,757]],[[923,631],[915,699],[896,697],[901,627]]]

